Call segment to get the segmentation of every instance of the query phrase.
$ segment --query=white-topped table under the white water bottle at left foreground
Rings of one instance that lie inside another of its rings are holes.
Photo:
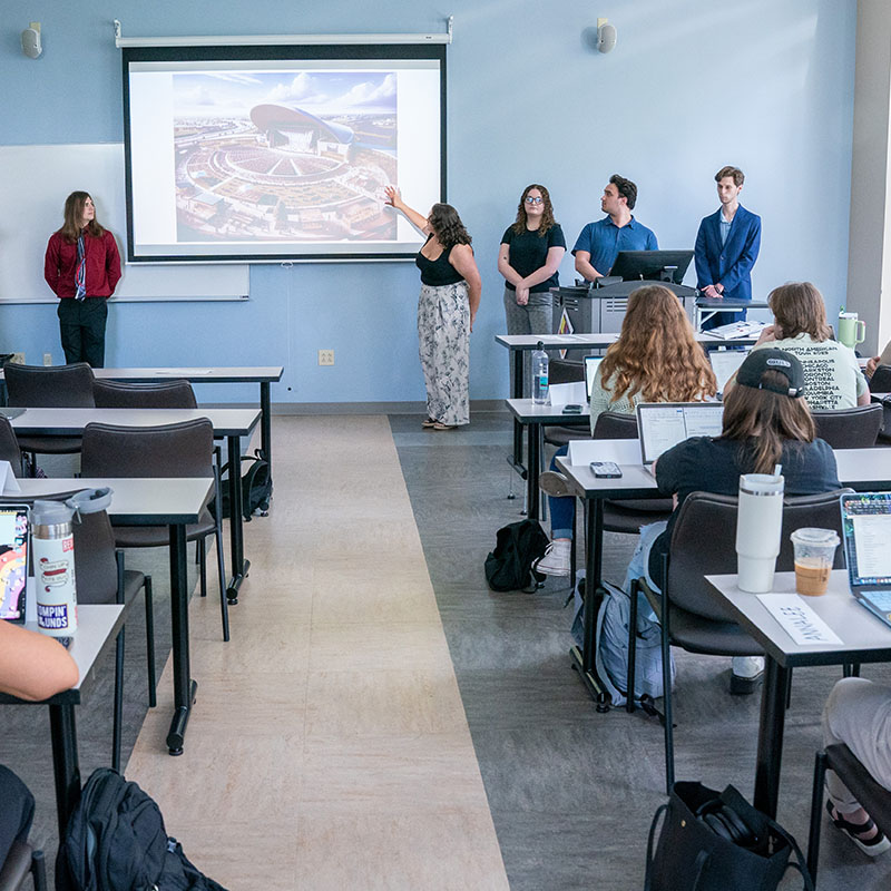
[[[75,706],[81,701],[96,674],[99,654],[114,640],[124,623],[124,607],[116,604],[81,605],[77,608],[77,633],[70,638],[68,652],[77,663],[78,682],[71,689],[57,693],[42,703],[32,703],[0,693],[0,703],[16,705],[48,705],[50,737],[52,740],[52,772],[56,780],[56,811],[59,838],[65,833],[68,819],[80,800],[80,766],[77,754],[77,724]],[[26,625],[37,631],[36,623]],[[59,644],[61,646],[61,644]]]

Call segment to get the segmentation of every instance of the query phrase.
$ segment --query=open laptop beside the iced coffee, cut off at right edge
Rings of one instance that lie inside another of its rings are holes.
[[[851,594],[891,626],[891,492],[843,495],[841,507]]]

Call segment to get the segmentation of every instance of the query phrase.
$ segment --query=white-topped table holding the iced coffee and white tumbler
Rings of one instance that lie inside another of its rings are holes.
[[[809,665],[890,662],[891,628],[851,596],[848,572],[835,569],[829,590],[822,597],[802,597],[830,628],[841,644],[796,644],[754,594],[736,587],[736,576],[706,576],[721,603],[740,625],[764,648],[766,665],[761,694],[761,722],[755,770],[754,804],[768,816],[776,816],[780,767],[783,757],[783,731],[786,697],[792,669]],[[774,576],[775,594],[795,593],[795,574]]]

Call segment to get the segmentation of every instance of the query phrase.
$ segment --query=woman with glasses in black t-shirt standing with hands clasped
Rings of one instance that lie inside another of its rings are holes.
[[[566,238],[554,219],[550,195],[545,186],[532,183],[520,196],[517,219],[501,236],[498,253],[498,272],[505,276],[508,334],[554,331],[550,288],[559,285],[557,270],[565,253]]]

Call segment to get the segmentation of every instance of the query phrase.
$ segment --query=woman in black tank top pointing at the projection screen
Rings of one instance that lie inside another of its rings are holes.
[[[470,235],[450,204],[434,204],[424,217],[394,186],[384,192],[386,203],[427,235],[414,261],[421,271],[418,342],[427,385],[422,427],[453,430],[470,423],[470,332],[482,292]]]

